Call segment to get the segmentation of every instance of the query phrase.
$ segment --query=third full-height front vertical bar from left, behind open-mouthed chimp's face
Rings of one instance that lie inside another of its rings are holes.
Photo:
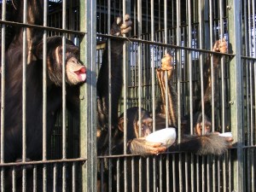
[[[48,1],[44,1],[44,26],[47,26]],[[43,160],[47,160],[47,31],[43,36]],[[35,178],[34,178],[35,179]],[[43,168],[43,190],[47,191],[47,166]]]

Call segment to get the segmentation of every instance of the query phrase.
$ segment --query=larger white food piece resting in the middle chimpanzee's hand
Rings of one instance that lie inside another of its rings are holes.
[[[146,137],[146,140],[152,143],[162,143],[163,146],[169,148],[176,140],[176,129],[170,127],[154,131]]]

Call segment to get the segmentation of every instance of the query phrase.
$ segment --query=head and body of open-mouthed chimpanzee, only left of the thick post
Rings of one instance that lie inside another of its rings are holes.
[[[23,15],[23,1],[17,1],[15,12],[17,21]],[[27,20],[29,24],[40,25],[41,3],[38,0],[28,1]],[[36,29],[27,29],[26,44],[26,161],[42,160],[43,155],[43,41],[42,32]],[[5,53],[5,100],[4,100],[4,161],[18,162],[22,160],[22,79],[23,77],[23,37],[22,28],[15,27],[15,37]],[[62,84],[62,39],[61,37],[47,38],[47,137],[50,137],[55,125],[56,113],[61,108]],[[71,41],[66,40],[66,73],[67,91],[70,86],[84,83],[86,68],[79,62],[79,48]],[[2,92],[1,92],[2,94]],[[68,95],[68,94],[67,94]],[[71,102],[67,96],[67,102]],[[25,103],[24,103],[25,104]],[[3,133],[1,133],[3,134]],[[18,171],[18,170],[17,170]],[[32,183],[32,174],[27,172],[27,184]],[[21,179],[17,173],[16,187],[21,190]],[[11,176],[6,170],[7,191],[12,189]],[[38,183],[38,191],[40,191]],[[32,186],[27,186],[28,191]]]

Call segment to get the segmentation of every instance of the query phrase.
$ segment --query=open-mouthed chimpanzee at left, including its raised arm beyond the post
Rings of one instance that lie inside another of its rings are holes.
[[[14,12],[15,21],[21,22],[23,18],[23,1],[16,1]],[[43,1],[27,1],[27,22],[31,25],[43,24]],[[122,35],[131,31],[129,15],[125,20],[116,19],[111,34]],[[37,28],[26,29],[26,39],[23,39],[22,28],[15,27],[15,36],[6,51],[6,79],[5,79],[5,113],[4,113],[4,161],[17,162],[22,160],[22,59],[23,41],[27,44],[26,55],[26,161],[42,160],[43,154],[43,32]],[[113,90],[117,94],[112,103],[118,105],[122,86],[122,45],[123,41],[113,40],[111,46]],[[66,73],[67,82],[67,109],[74,115],[79,113],[79,84],[86,80],[86,68],[79,62],[79,48],[71,41],[66,40],[66,54],[62,55],[62,38],[47,38],[47,137],[50,137],[55,125],[56,113],[61,108],[62,73]],[[101,114],[108,116],[108,51],[105,51],[102,69],[97,83],[99,125],[105,128],[108,121],[101,118]],[[66,58],[66,72],[62,72],[62,56]],[[107,78],[106,78],[107,77]],[[107,80],[106,80],[107,79]],[[117,79],[120,79],[119,81]],[[119,84],[116,84],[118,82]],[[1,93],[2,94],[2,93]],[[113,118],[117,115],[113,108]],[[101,121],[101,119],[103,119]],[[116,116],[115,119],[118,119]],[[102,123],[101,123],[102,122]],[[116,120],[116,125],[118,121]],[[104,130],[104,129],[102,129]],[[3,134],[3,133],[2,133]],[[101,140],[101,136],[99,136]],[[11,190],[11,176],[6,170],[7,191]],[[32,191],[32,174],[27,170],[27,191]],[[21,175],[17,173],[17,176]],[[21,190],[20,177],[16,177],[16,189]],[[42,181],[41,181],[42,182]],[[38,181],[38,191],[41,191]]]

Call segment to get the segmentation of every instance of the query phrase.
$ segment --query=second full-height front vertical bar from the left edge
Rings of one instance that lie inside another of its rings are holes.
[[[27,23],[27,1],[23,4],[23,23]],[[26,27],[22,29],[22,162],[26,162]],[[26,192],[26,166],[22,166],[22,192]]]

